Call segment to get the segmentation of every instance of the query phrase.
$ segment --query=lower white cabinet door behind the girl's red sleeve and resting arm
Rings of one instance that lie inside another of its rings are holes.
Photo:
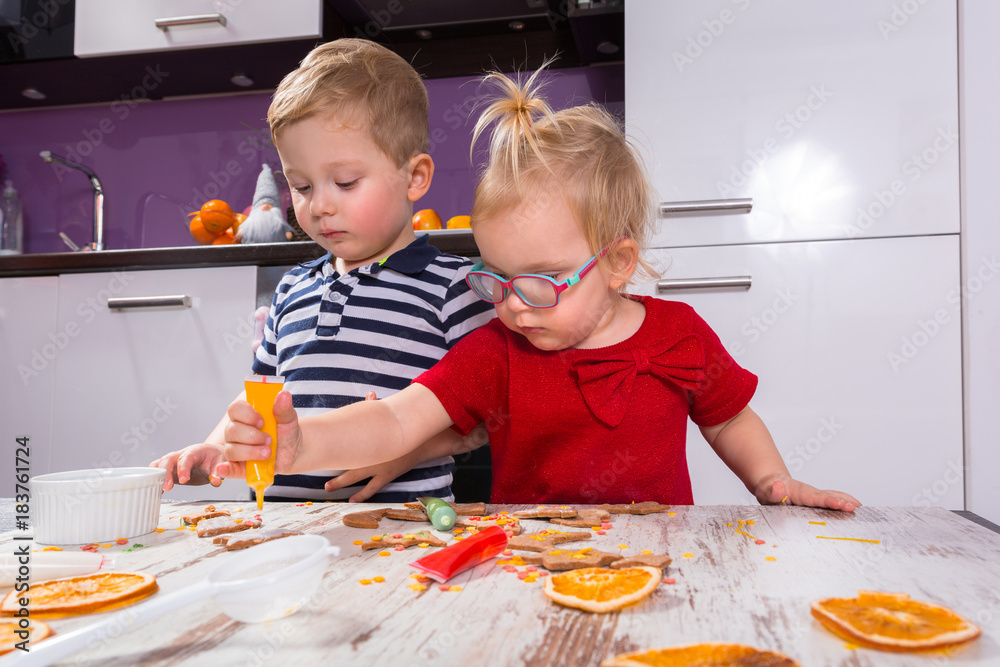
[[[760,378],[751,407],[792,475],[869,505],[963,507],[958,235],[656,250],[635,291],[689,303]],[[753,503],[697,427],[699,504]]]

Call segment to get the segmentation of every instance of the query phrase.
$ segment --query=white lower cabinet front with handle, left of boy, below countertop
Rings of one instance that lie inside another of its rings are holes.
[[[254,266],[60,276],[56,330],[78,333],[55,369],[53,470],[145,466],[203,441],[250,372],[256,276]],[[175,296],[186,299],[141,307]],[[111,309],[109,298],[139,307]],[[230,480],[220,489],[175,487],[168,497],[247,491]]]

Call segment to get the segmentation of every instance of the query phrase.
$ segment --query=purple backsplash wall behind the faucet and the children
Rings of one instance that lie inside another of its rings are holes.
[[[547,96],[557,108],[596,100],[613,112],[623,109],[621,66],[554,70],[550,81]],[[436,171],[416,208],[433,208],[447,220],[472,208],[469,142],[478,86],[474,78],[432,79],[427,89]],[[108,248],[196,245],[186,213],[208,199],[241,211],[251,202],[261,164],[280,169],[265,120],[269,102],[269,93],[254,93],[0,113],[4,177],[24,204],[25,252],[66,250],[60,231],[79,245],[91,240],[86,177],[46,164],[42,150],[100,177]]]

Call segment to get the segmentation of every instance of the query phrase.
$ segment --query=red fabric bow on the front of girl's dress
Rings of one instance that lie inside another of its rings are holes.
[[[682,389],[694,390],[705,380],[705,353],[694,334],[644,350],[611,356],[579,356],[572,361],[587,407],[608,426],[625,417],[636,377],[649,373]]]

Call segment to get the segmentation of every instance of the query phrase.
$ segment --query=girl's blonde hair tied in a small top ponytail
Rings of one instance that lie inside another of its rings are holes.
[[[553,184],[573,209],[597,254],[623,238],[641,253],[655,224],[653,188],[619,122],[597,104],[553,111],[541,97],[546,62],[520,83],[499,72],[483,82],[499,98],[480,116],[473,146],[492,126],[489,160],[479,175],[473,225],[528,201],[552,196]],[[602,261],[613,267],[614,257]],[[638,269],[656,271],[641,256]]]

